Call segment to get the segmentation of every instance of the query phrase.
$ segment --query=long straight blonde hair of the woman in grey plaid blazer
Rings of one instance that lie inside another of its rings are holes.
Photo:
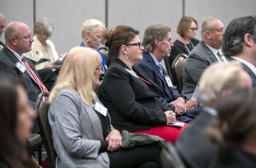
[[[52,103],[62,88],[77,91],[85,104],[91,105],[95,98],[92,90],[94,70],[100,67],[100,54],[89,47],[73,47],[65,57],[57,82],[49,96]]]

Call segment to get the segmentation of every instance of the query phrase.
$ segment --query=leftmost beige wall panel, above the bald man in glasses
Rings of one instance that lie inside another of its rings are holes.
[[[20,21],[26,23],[33,32],[33,1],[0,0],[0,12],[5,16],[6,26],[12,21]],[[0,40],[5,42],[4,33]]]

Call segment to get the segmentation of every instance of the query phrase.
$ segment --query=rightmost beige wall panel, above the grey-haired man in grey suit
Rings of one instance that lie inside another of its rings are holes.
[[[225,27],[237,17],[256,15],[255,0],[185,0],[185,15],[198,22],[196,38],[201,40],[201,24],[208,16],[219,17]]]

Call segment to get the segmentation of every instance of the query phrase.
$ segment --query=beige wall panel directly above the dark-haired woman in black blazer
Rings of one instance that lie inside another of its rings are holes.
[[[181,17],[182,1],[180,0],[108,1],[108,27],[129,25],[140,30],[141,41],[145,29],[154,23],[169,26],[172,30],[172,38],[175,40],[178,36],[174,32]],[[163,62],[161,64],[164,65]]]

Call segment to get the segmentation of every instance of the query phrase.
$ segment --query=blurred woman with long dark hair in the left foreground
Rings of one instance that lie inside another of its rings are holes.
[[[30,153],[26,151],[36,113],[28,104],[24,87],[20,79],[0,73],[0,167],[3,168],[39,167],[30,152],[32,147]]]

